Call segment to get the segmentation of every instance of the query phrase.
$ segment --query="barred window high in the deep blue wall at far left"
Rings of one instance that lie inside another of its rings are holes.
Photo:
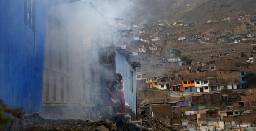
[[[24,24],[35,32],[35,0],[24,0]]]

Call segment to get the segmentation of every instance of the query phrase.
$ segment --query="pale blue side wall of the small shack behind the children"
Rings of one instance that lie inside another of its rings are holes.
[[[129,104],[130,109],[136,114],[136,70],[126,60],[124,54],[121,54],[118,50],[115,51],[115,54],[116,72],[123,76],[123,81],[125,84],[125,102]],[[131,92],[130,70],[133,71],[133,92]]]

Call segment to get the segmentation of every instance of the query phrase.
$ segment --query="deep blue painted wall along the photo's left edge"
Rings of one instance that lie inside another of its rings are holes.
[[[34,1],[31,29],[24,22],[24,0],[0,0],[0,99],[27,114],[42,105],[47,1]]]

